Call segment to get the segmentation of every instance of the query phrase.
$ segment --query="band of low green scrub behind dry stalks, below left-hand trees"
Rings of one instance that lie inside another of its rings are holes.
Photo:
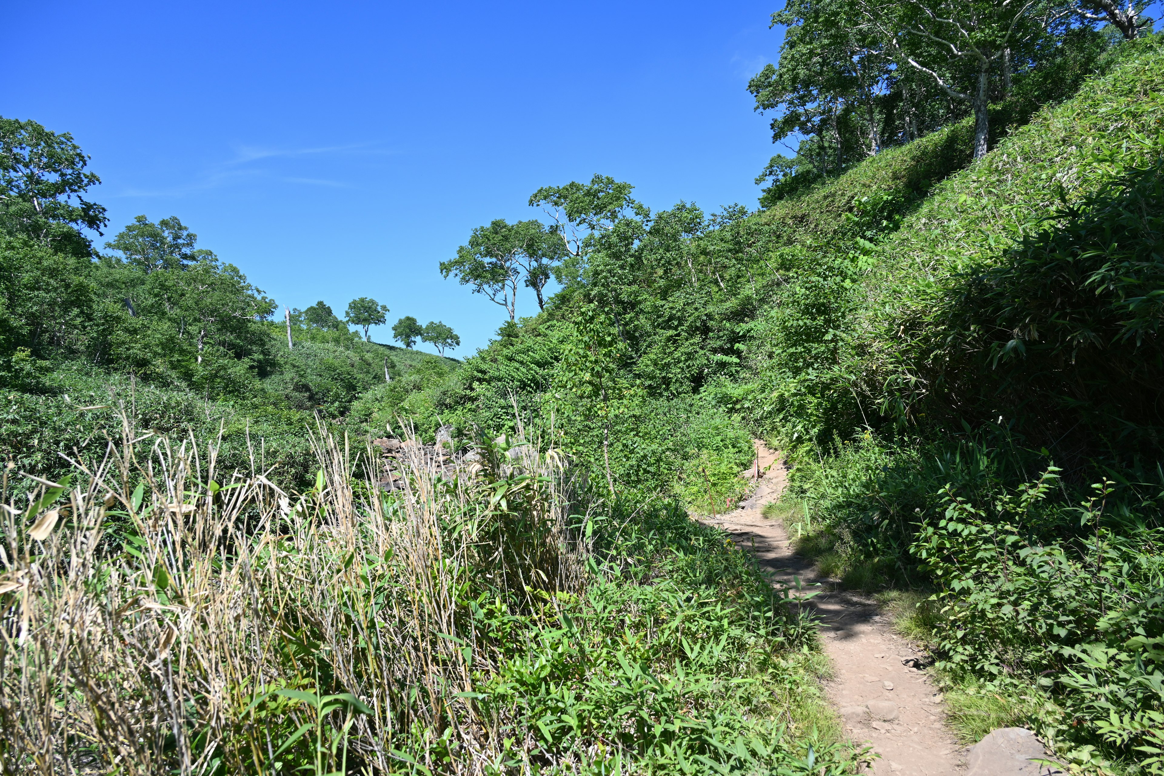
[[[0,393],[0,450],[22,471],[62,476],[73,460],[98,457],[121,434],[125,413],[139,428],[180,443],[218,437],[223,469],[271,468],[305,487],[315,461],[307,434],[317,418],[354,436],[382,436],[398,418],[414,419],[431,439],[439,425],[433,393],[455,375],[452,358],[365,343],[353,337],[271,346],[278,368],[251,390],[212,396],[180,380],[151,379],[86,366],[37,362],[36,390]],[[384,382],[384,358],[391,383]],[[24,386],[27,387],[27,386]],[[399,430],[399,429],[397,429]]]

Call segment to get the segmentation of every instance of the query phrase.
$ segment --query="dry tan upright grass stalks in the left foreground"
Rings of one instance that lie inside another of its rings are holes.
[[[527,606],[577,588],[560,472],[483,492],[412,447],[385,497],[324,436],[315,486],[292,496],[220,474],[214,446],[139,458],[132,441],[6,510],[10,773],[496,760],[464,595],[484,565]]]

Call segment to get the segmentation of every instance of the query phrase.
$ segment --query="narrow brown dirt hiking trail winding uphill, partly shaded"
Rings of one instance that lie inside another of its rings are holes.
[[[937,689],[923,658],[908,641],[893,633],[889,618],[859,593],[839,590],[836,581],[818,577],[812,562],[795,555],[779,520],[760,511],[775,501],[787,485],[782,456],[757,443],[759,478],[755,491],[737,508],[705,522],[722,527],[736,544],[752,551],[775,583],[804,592],[819,591],[805,605],[821,619],[821,636],[832,661],[833,676],[825,684],[840,710],[845,731],[857,743],[871,743],[880,755],[866,773],[897,776],[946,776],[965,771],[966,748],[946,728]]]

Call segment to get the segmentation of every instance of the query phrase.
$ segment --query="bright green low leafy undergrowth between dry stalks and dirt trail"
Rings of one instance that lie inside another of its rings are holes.
[[[601,522],[609,560],[549,622],[512,632],[478,688],[527,720],[514,741],[540,732],[595,763],[582,773],[608,773],[616,743],[631,773],[852,767],[812,628],[746,554],[673,508]]]

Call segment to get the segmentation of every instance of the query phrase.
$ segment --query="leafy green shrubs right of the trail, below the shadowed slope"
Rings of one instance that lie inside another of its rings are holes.
[[[782,512],[800,551],[882,591],[930,650],[965,740],[1021,724],[1085,769],[1155,773],[1164,478],[1098,480],[1005,440],[860,439],[799,461]]]

